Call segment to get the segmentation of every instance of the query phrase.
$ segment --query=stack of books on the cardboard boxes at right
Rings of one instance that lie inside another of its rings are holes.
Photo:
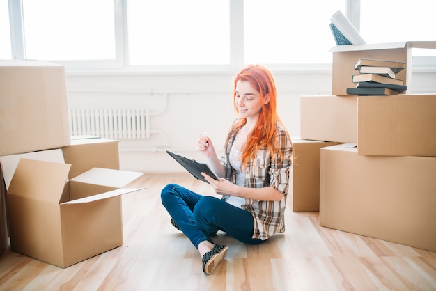
[[[354,69],[359,74],[352,76],[356,87],[347,88],[350,95],[398,95],[407,90],[407,85],[396,74],[405,68],[405,62],[359,58]]]

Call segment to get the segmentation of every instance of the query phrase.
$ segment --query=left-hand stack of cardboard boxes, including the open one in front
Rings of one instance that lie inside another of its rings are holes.
[[[118,141],[71,139],[63,66],[0,61],[0,253],[68,267],[123,244]]]

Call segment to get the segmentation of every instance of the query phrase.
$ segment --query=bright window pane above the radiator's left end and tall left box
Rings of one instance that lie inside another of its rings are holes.
[[[114,1],[22,1],[26,58],[115,58]]]

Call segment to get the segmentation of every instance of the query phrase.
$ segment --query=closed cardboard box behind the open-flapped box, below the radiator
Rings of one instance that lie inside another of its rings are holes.
[[[65,163],[71,164],[68,178],[76,177],[91,168],[120,169],[118,141],[98,137],[74,137],[71,145],[62,148]]]

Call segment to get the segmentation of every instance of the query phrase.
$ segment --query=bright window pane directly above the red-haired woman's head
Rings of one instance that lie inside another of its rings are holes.
[[[244,1],[245,63],[331,63],[329,24],[344,0]]]

